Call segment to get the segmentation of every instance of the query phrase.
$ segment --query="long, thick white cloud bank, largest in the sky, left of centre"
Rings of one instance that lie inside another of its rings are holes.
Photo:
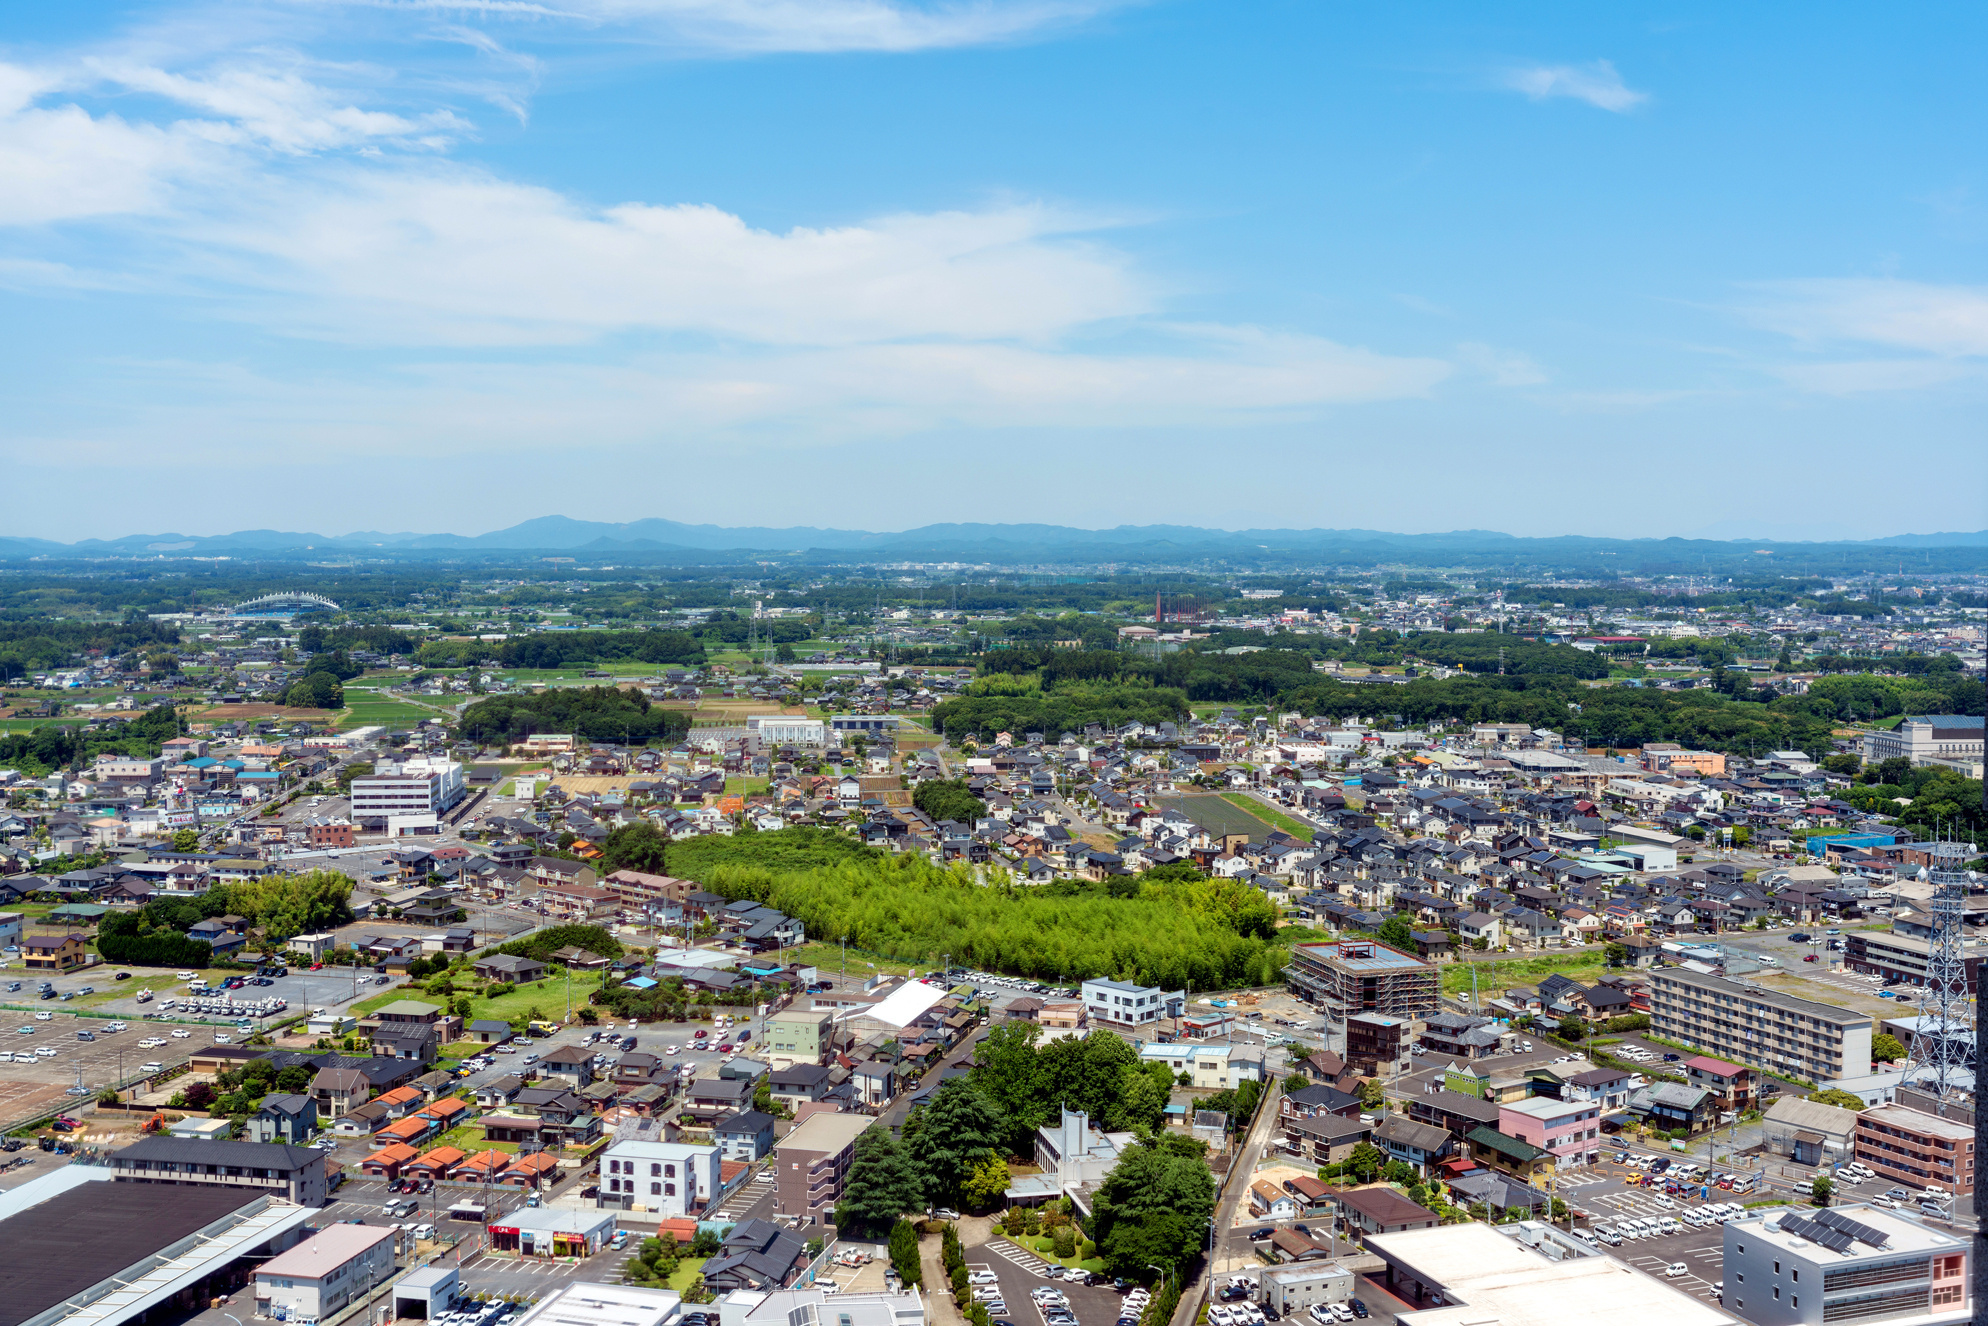
[[[1054,338],[1155,312],[1087,223],[1038,205],[783,233],[700,203],[588,209],[531,185],[346,167],[193,229],[254,316],[398,344],[694,332],[757,344]]]

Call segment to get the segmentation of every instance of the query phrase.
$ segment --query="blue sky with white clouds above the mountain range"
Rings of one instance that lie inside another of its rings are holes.
[[[1984,28],[32,6],[0,529],[1980,529]]]

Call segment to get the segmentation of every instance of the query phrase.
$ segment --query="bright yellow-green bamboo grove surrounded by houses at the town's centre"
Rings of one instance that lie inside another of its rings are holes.
[[[819,865],[769,867],[777,857],[767,853]],[[950,952],[1044,980],[1121,976],[1197,990],[1270,984],[1284,964],[1284,950],[1262,938],[1268,905],[1235,881],[1151,883],[1129,899],[986,887],[966,869],[857,857],[797,829],[684,843],[670,869],[728,899],[777,907],[815,938],[847,936],[905,962]]]

